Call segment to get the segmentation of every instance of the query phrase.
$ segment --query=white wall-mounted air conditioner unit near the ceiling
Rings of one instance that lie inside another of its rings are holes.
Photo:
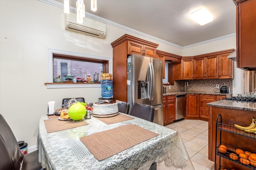
[[[83,23],[76,22],[76,13],[65,14],[65,29],[98,38],[106,36],[106,24],[92,18],[84,17]]]

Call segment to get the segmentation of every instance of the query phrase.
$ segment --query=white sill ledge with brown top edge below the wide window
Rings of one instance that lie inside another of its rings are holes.
[[[48,89],[54,88],[99,88],[100,83],[44,83]]]

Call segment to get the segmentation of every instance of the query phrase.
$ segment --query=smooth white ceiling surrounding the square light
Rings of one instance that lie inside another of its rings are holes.
[[[56,0],[62,2],[63,0]],[[181,47],[236,33],[232,0],[97,0],[96,12],[84,0],[86,12]],[[76,0],[70,0],[76,8]],[[199,25],[190,13],[206,8],[213,21]]]

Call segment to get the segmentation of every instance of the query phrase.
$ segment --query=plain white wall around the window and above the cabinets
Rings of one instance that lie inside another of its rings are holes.
[[[198,55],[235,48],[235,37],[179,49],[111,25],[104,39],[64,29],[63,9],[37,0],[0,0],[0,113],[17,141],[36,145],[36,131],[47,103],[84,97],[97,102],[100,88],[47,89],[46,48],[112,57],[111,43],[129,34],[159,44],[158,50],[176,55]]]

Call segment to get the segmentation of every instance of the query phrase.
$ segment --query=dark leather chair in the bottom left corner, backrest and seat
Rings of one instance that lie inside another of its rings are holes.
[[[22,163],[23,160],[23,163]],[[12,130],[0,114],[0,170],[41,170],[38,152],[23,155]]]

